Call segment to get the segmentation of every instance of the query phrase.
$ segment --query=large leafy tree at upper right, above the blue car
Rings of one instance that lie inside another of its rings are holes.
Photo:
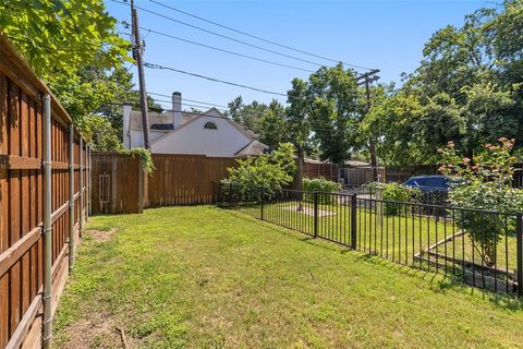
[[[435,164],[449,141],[472,158],[485,143],[523,137],[522,15],[521,0],[475,11],[433,35],[401,88],[373,89],[362,131],[386,165]]]

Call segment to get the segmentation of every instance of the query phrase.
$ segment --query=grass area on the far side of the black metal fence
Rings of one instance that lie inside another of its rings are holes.
[[[297,207],[295,201],[279,202],[266,204],[265,220],[279,224],[281,226],[313,234],[314,218],[309,214],[299,213],[290,207]],[[308,207],[311,213],[313,205],[302,203]],[[259,206],[235,207],[240,212],[253,217],[260,218]],[[437,252],[457,260],[474,261],[482,263],[481,249],[474,249],[469,234],[457,237],[454,240],[437,244],[446,237],[450,237],[459,231],[459,227],[452,221],[436,220],[430,216],[408,215],[402,212],[401,215],[385,215],[382,205],[370,209],[370,207],[360,207],[356,210],[356,231],[357,245],[361,251],[377,253],[381,256],[408,265],[418,264],[414,255],[421,251]],[[402,206],[404,208],[404,206]],[[350,244],[351,213],[349,205],[319,204],[318,210],[332,213],[318,218],[318,236],[327,239]],[[509,266],[509,273],[513,273],[516,267],[516,241],[514,236],[501,237],[497,244],[498,261],[496,267],[506,269]],[[443,264],[442,260],[440,264]],[[448,262],[449,268],[451,262]],[[429,266],[428,263],[425,265]],[[459,267],[458,267],[459,269]]]

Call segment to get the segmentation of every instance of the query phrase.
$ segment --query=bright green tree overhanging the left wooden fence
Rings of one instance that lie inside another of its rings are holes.
[[[0,27],[81,129],[89,113],[114,101],[111,71],[131,61],[115,23],[101,0],[0,3]]]

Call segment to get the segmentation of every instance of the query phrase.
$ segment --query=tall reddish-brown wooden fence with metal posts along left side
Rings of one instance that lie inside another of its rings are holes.
[[[47,347],[89,202],[89,149],[0,32],[0,348]]]

